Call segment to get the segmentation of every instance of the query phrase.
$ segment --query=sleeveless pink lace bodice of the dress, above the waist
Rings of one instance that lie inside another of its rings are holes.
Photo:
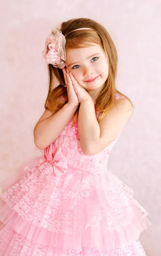
[[[118,96],[116,97],[119,99]],[[99,117],[99,113],[97,111],[96,117],[97,119]],[[103,172],[104,169],[106,169],[112,148],[114,147],[124,128],[115,138],[115,140],[113,140],[112,143],[110,143],[106,148],[104,148],[98,154],[89,156],[83,154],[83,151],[81,150],[78,134],[78,119],[75,125],[72,127],[73,119],[74,115],[65,126],[61,134],[58,136],[58,138],[44,150],[46,157],[49,158],[49,154],[50,156],[52,154],[53,157],[55,156],[56,152],[59,151],[59,153],[62,155],[62,159],[65,157],[67,161],[68,172],[74,172],[75,170],[80,173]],[[51,160],[53,162],[52,157]]]

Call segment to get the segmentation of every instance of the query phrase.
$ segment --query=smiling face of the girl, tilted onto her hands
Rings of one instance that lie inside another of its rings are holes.
[[[65,65],[78,84],[89,92],[95,90],[95,93],[99,93],[109,75],[105,52],[98,44],[91,44],[90,47],[85,48],[66,49]],[[97,79],[88,82],[95,77]]]

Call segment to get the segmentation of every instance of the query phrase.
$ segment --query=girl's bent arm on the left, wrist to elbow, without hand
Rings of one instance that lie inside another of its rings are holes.
[[[67,123],[74,115],[77,108],[66,103],[54,115],[45,110],[34,128],[34,141],[39,149],[45,149],[52,144],[63,131]]]

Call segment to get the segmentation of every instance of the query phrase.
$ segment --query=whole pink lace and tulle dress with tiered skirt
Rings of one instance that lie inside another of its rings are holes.
[[[42,157],[21,168],[12,184],[1,184],[0,255],[145,256],[139,236],[152,224],[148,212],[107,169],[121,133],[87,156],[72,120]]]

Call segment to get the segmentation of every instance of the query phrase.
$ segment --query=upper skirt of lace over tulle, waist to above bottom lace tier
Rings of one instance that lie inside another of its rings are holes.
[[[67,172],[55,177],[51,164],[44,163],[26,168],[20,182],[1,195],[5,204],[0,221],[23,239],[43,246],[114,253],[152,224],[133,195],[109,170],[102,175]]]

